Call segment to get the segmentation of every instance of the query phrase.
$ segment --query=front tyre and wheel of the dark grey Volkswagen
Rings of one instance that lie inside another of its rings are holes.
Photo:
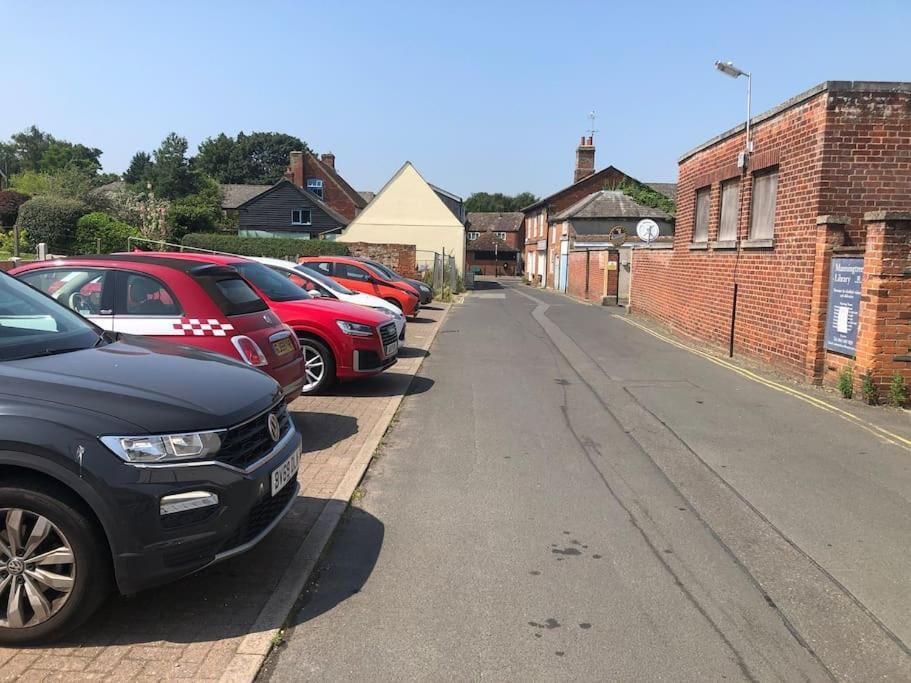
[[[111,590],[110,552],[100,530],[50,487],[0,486],[0,540],[2,645],[60,638],[88,619]],[[18,599],[11,600],[12,591]]]

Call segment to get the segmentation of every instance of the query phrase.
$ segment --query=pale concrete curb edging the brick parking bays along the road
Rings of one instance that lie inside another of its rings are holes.
[[[433,345],[440,328],[446,322],[452,305],[447,306],[433,333],[419,348],[428,351]],[[424,359],[414,369],[412,379],[421,370]],[[410,386],[410,382],[409,382]],[[313,527],[307,533],[300,549],[288,563],[285,573],[278,583],[269,601],[262,608],[248,633],[237,647],[237,652],[228,664],[228,668],[221,676],[222,683],[252,683],[259,674],[259,670],[266,661],[269,652],[278,640],[279,633],[285,621],[291,616],[291,611],[297,599],[303,592],[310,575],[316,568],[323,550],[332,538],[342,515],[348,509],[348,501],[357,488],[364,473],[370,466],[373,454],[380,444],[380,440],[389,428],[402,403],[404,395],[396,396],[390,401],[380,419],[374,425],[366,443],[361,446],[354,461],[342,477],[335,489],[335,493],[327,501]]]

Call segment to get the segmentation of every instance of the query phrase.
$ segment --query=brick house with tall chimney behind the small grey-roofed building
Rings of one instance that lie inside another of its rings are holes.
[[[614,190],[624,183],[643,184],[613,166],[595,171],[594,139],[592,136],[582,136],[576,148],[573,184],[522,209],[525,214],[526,279],[542,287],[558,287],[561,284],[557,277],[561,264],[563,273],[567,272],[569,242],[562,235],[557,235],[556,226],[551,224],[550,217],[594,192]],[[565,281],[562,284],[565,290]]]

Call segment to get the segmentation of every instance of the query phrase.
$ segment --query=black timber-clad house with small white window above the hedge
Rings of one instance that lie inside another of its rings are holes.
[[[280,180],[237,206],[242,237],[313,239],[337,234],[348,219],[290,180]]]

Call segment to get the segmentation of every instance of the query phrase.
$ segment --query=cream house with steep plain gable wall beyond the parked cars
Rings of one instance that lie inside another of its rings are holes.
[[[419,267],[432,264],[434,253],[445,253],[455,258],[461,273],[465,268],[465,225],[451,203],[444,202],[440,191],[406,161],[338,240],[413,244]]]

